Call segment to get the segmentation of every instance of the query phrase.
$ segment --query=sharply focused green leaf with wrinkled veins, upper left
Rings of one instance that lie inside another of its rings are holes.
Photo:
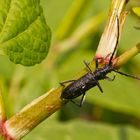
[[[26,66],[40,63],[50,40],[39,0],[0,1],[0,48],[11,61]]]

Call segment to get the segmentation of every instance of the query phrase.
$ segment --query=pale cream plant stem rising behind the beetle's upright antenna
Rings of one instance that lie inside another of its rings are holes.
[[[104,58],[108,54],[112,54],[115,48],[116,40],[117,40],[117,22],[116,22],[116,14],[118,15],[119,22],[120,22],[120,31],[122,28],[122,24],[125,19],[125,15],[123,13],[123,9],[127,4],[127,0],[112,0],[111,8],[109,11],[109,16],[107,20],[107,24],[105,30],[102,34],[101,40],[99,42],[99,46],[96,52],[95,57]],[[123,15],[123,20],[120,20]]]

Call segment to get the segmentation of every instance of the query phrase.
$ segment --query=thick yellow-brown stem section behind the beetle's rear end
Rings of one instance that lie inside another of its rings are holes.
[[[19,113],[5,122],[10,137],[21,139],[44,119],[49,117],[65,102],[60,99],[62,87],[52,89],[25,106]]]

